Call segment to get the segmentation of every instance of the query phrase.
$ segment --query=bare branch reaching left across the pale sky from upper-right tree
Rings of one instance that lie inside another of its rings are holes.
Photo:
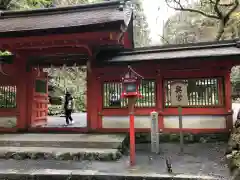
[[[179,7],[173,7],[173,6],[171,6],[171,5],[169,4],[169,0],[165,0],[167,6],[170,7],[170,8],[172,8],[172,9],[174,9],[174,10],[176,10],[176,11],[194,12],[194,13],[201,14],[201,15],[203,15],[203,16],[205,16],[205,17],[209,17],[209,18],[213,18],[213,19],[219,19],[219,16],[216,16],[216,15],[214,15],[214,14],[208,14],[208,13],[206,13],[206,12],[204,12],[204,11],[201,11],[201,10],[198,10],[198,9],[185,8],[185,7],[181,4],[180,0],[172,0],[172,1],[173,1],[174,3],[176,3]],[[217,1],[220,1],[220,0],[217,0]]]

